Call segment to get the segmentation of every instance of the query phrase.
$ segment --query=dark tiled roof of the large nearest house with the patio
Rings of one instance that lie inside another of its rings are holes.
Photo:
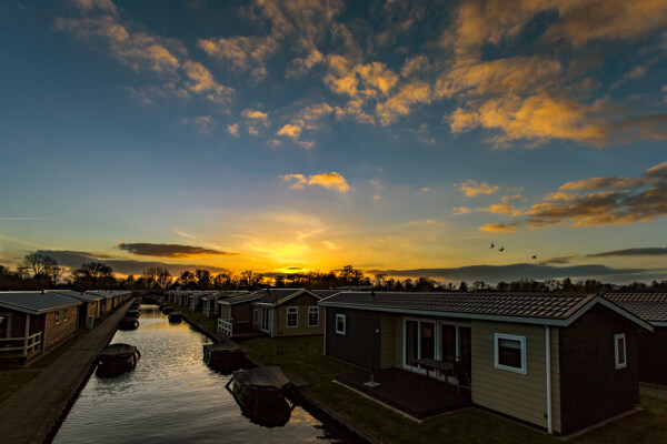
[[[603,304],[645,329],[653,330],[638,316],[595,294],[341,292],[326,297],[319,304],[556,326],[567,326],[594,305]]]

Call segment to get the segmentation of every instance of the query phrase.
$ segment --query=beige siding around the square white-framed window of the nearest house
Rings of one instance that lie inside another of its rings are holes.
[[[526,374],[495,367],[494,334],[526,336]],[[559,334],[551,327],[551,415],[560,424]],[[547,428],[546,336],[541,325],[472,321],[472,403]]]

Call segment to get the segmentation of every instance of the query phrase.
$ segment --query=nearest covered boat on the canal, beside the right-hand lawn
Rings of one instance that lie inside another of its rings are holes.
[[[250,421],[265,427],[287,424],[293,410],[285,395],[293,384],[280,367],[267,366],[238,370],[227,383],[231,393]]]

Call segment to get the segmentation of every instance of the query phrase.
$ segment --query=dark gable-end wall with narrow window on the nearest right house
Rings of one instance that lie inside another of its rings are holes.
[[[639,402],[637,329],[598,305],[560,332],[563,433],[627,412]],[[617,333],[626,334],[627,366],[619,370]]]

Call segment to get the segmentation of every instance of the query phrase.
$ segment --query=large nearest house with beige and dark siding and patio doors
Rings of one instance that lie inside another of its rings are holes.
[[[326,354],[448,381],[421,363],[450,362],[472,404],[564,435],[634,408],[638,336],[653,331],[586,294],[341,292],[319,305]]]

